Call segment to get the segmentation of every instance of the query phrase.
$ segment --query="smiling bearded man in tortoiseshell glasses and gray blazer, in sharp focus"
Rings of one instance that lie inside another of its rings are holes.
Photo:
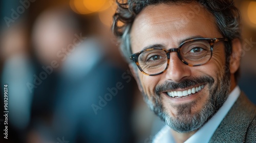
[[[113,32],[146,103],[167,125],[153,142],[256,142],[256,107],[237,86],[233,1],[121,2]]]

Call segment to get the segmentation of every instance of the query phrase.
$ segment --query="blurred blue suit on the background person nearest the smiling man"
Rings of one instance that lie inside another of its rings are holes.
[[[53,122],[56,136],[70,142],[134,142],[130,124],[134,81],[106,61],[94,42],[86,40],[63,65]],[[108,88],[117,83],[123,88],[111,93]],[[102,101],[107,93],[116,95]],[[100,109],[93,109],[93,104]]]

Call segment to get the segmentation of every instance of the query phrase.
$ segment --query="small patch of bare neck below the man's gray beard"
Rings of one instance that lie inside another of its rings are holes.
[[[191,131],[191,132],[187,132],[187,133],[179,133],[177,131],[171,130],[171,133],[172,133],[172,135],[174,137],[174,140],[177,143],[185,142],[190,136],[192,136],[196,132],[197,131]]]

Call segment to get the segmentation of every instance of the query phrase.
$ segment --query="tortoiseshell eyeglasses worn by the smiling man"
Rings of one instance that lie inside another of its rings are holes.
[[[169,65],[170,53],[177,52],[179,59],[189,66],[207,63],[212,56],[214,44],[227,38],[195,38],[182,42],[179,47],[165,50],[161,47],[142,50],[130,55],[140,71],[147,76],[164,73]]]

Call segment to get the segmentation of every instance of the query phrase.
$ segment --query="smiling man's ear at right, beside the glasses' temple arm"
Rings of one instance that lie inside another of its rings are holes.
[[[232,53],[230,55],[230,60],[229,60],[230,74],[234,74],[238,70],[240,66],[241,54],[242,54],[241,41],[239,39],[233,39]]]

